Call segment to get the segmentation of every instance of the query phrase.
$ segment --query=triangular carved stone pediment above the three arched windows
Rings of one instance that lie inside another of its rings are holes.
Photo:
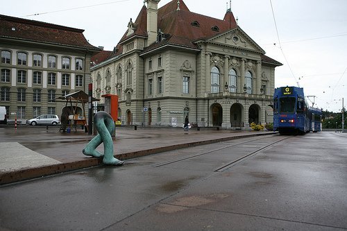
[[[241,28],[234,28],[226,33],[211,37],[207,42],[246,49],[248,51],[254,51],[255,53],[265,53],[265,51],[256,44],[251,37],[244,33]]]

